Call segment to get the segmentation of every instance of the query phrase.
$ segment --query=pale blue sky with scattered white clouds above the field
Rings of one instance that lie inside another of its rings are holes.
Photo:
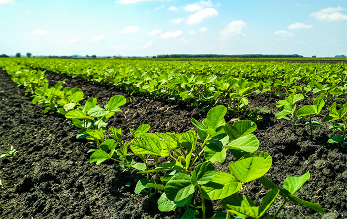
[[[0,0],[0,54],[347,55],[347,0]]]

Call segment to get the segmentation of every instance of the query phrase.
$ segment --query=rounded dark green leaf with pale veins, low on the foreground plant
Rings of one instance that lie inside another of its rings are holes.
[[[164,191],[168,199],[178,202],[193,194],[195,188],[190,182],[190,176],[180,172],[167,182]]]

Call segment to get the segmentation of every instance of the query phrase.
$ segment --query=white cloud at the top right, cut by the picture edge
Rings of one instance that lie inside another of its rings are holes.
[[[315,17],[316,20],[326,20],[326,21],[342,21],[347,20],[347,15],[342,14],[338,11],[345,10],[340,6],[338,7],[327,7],[323,8],[317,12],[312,12],[310,17]]]

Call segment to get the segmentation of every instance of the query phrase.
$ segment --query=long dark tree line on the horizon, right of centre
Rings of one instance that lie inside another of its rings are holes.
[[[246,55],[218,55],[218,54],[172,54],[157,55],[157,58],[303,58],[302,55],[262,55],[262,54],[246,54]]]

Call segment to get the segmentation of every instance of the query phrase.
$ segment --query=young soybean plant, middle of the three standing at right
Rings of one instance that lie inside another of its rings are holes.
[[[312,121],[312,118],[314,116],[320,115],[320,111],[324,107],[324,94],[320,94],[314,101],[313,105],[305,105],[301,107],[296,112],[296,116],[298,118],[304,118],[307,122],[306,125],[310,126],[311,131],[311,138],[313,138],[313,128],[314,127],[322,127],[323,125],[320,124],[318,121]]]

